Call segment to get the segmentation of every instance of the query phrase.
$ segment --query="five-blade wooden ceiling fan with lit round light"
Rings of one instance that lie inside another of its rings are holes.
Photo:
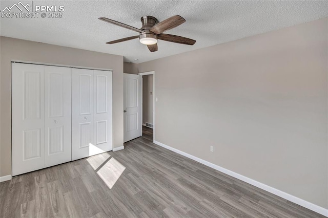
[[[135,38],[139,38],[139,41],[147,45],[149,51],[156,52],[157,51],[157,39],[165,40],[165,41],[171,41],[175,43],[185,44],[185,45],[194,45],[196,40],[182,37],[182,36],[176,36],[171,34],[163,34],[163,32],[173,29],[183,23],[186,22],[185,19],[183,19],[179,15],[172,16],[166,20],[163,20],[159,22],[155,17],[153,16],[143,16],[141,17],[141,23],[142,27],[140,29],[131,27],[126,24],[122,24],[118,21],[106,18],[106,17],[99,17],[98,19],[106,21],[110,24],[114,24],[120,27],[127,28],[129,30],[133,30],[135,32],[138,32],[138,36],[130,36],[126,38],[117,39],[114,41],[106,42],[107,44],[114,44],[117,42],[127,41]]]

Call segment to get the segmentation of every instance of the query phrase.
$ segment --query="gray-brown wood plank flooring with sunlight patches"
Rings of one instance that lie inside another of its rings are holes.
[[[0,217],[324,217],[152,139],[0,183]]]

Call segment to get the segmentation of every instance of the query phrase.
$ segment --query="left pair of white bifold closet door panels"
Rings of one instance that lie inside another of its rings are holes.
[[[12,63],[12,175],[71,161],[71,69]]]

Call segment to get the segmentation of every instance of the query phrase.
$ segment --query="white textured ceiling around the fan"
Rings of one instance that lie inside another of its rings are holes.
[[[18,1],[1,1],[0,8],[14,3]],[[328,1],[34,1],[33,4],[63,5],[63,18],[1,18],[1,35],[122,55],[125,61],[135,63],[328,16]],[[161,21],[176,14],[185,18],[186,23],[166,33],[197,42],[187,46],[159,40],[158,51],[153,53],[138,39],[106,45],[107,41],[138,33],[98,20],[108,17],[140,28],[141,16],[151,15]]]

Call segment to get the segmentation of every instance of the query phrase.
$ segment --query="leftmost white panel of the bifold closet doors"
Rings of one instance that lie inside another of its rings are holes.
[[[12,175],[45,167],[44,66],[12,63]]]

